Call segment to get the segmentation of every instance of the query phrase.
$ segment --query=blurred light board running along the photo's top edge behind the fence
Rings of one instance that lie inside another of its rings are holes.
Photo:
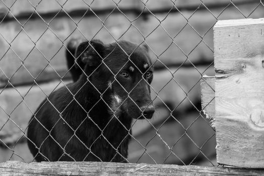
[[[257,0],[234,0],[233,3],[235,5],[237,4],[243,4],[243,3],[257,3]],[[221,1],[213,1],[213,0],[206,0],[203,1],[203,4],[207,8],[213,7],[219,7],[219,6],[227,6],[230,3],[229,0],[221,0]],[[114,8],[116,8],[116,5],[119,9],[122,11],[125,10],[134,10],[136,13],[137,11],[142,11],[144,7],[146,6],[147,9],[144,9],[145,13],[149,11],[169,11],[173,6],[175,6],[178,9],[196,9],[199,7],[202,3],[200,1],[191,1],[191,0],[181,0],[172,2],[169,0],[164,1],[157,1],[152,0],[149,1],[135,1],[135,0],[122,0],[122,1],[104,1],[104,0],[75,0],[73,1],[65,1],[65,0],[45,0],[45,1],[27,1],[27,0],[4,0],[0,2],[0,17],[5,17],[7,14],[8,17],[13,18],[19,17],[19,16],[25,16],[26,14],[31,14],[34,12],[34,7],[36,8],[36,12],[39,14],[56,14],[58,12],[64,13],[67,12],[71,14],[72,12],[76,11],[86,11],[89,9],[89,7],[97,12],[97,11],[104,11],[108,10],[109,12],[112,11]],[[61,6],[63,7],[63,10],[61,10]],[[201,6],[203,7],[203,6]],[[11,9],[11,13],[8,14],[9,10]],[[26,15],[28,16],[28,15]]]

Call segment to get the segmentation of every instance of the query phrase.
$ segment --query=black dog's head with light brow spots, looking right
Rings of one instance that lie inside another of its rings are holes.
[[[109,113],[135,119],[152,118],[150,96],[153,66],[146,46],[128,41],[105,45],[99,40],[84,42],[76,50],[84,72],[100,92]]]

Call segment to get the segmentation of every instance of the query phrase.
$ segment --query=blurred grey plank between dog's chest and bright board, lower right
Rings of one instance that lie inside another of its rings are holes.
[[[174,118],[163,119],[162,123],[131,140],[129,162],[188,165],[201,160],[210,166],[217,165],[215,132],[209,120],[200,117],[198,112],[172,115]]]

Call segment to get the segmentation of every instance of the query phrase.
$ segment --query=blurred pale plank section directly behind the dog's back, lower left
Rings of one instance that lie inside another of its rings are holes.
[[[68,81],[69,82],[69,81]],[[67,83],[67,82],[65,82]],[[59,81],[34,86],[20,86],[0,92],[0,139],[1,145],[15,143],[23,137],[28,121],[39,104],[56,87]]]

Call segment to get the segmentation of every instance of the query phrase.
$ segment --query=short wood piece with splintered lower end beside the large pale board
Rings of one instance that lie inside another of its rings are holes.
[[[202,110],[208,119],[215,119],[215,76],[203,76],[201,83]]]

